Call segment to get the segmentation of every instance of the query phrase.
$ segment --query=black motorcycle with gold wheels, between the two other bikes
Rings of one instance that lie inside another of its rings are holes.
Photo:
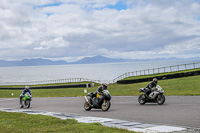
[[[90,111],[92,108],[108,111],[111,106],[111,102],[110,102],[111,94],[108,90],[103,90],[102,93],[103,95],[99,95],[97,93],[95,96],[95,94],[91,92],[91,93],[88,93],[87,96],[84,96],[84,99],[85,99],[84,109],[86,111]],[[99,100],[101,100],[100,103],[99,103]]]

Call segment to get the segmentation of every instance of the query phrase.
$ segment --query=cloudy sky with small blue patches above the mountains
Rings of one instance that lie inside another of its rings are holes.
[[[200,0],[1,0],[0,60],[200,57]]]

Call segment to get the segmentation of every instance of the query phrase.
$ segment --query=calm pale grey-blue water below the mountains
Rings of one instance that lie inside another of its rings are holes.
[[[0,82],[33,82],[68,78],[112,81],[126,72],[167,67],[199,60],[81,64],[59,66],[0,67]]]

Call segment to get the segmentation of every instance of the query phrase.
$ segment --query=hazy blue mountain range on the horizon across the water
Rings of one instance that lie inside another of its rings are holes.
[[[200,60],[200,58],[190,58],[191,60]],[[64,60],[52,61],[49,59],[23,59],[21,61],[0,60],[0,67],[12,66],[41,66],[41,65],[67,65],[67,64],[93,64],[93,63],[117,63],[117,62],[138,62],[138,61],[161,61],[161,60],[181,60],[180,58],[156,58],[156,59],[113,59],[104,56],[85,57],[79,61],[66,62]],[[183,59],[182,59],[183,60]]]

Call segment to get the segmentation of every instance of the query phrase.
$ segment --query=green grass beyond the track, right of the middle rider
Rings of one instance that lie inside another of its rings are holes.
[[[159,80],[158,85],[164,89],[165,95],[200,95],[200,76]],[[109,86],[112,95],[139,95],[139,88],[144,88],[149,82],[135,84],[114,84]]]

